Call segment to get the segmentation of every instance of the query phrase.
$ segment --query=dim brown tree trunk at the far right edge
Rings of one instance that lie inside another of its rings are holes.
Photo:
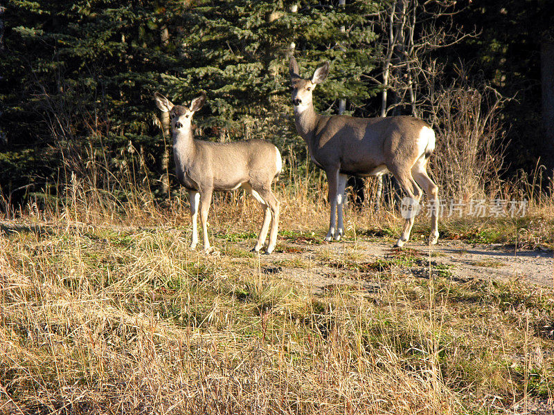
[[[542,122],[545,131],[544,154],[548,168],[554,168],[554,40],[543,39],[541,46]]]

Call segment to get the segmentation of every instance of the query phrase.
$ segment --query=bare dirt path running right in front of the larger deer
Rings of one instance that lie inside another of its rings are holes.
[[[337,284],[362,284],[371,289],[376,284],[377,271],[367,268],[375,267],[379,261],[388,266],[397,264],[394,270],[399,275],[429,273],[429,246],[424,243],[411,242],[403,250],[396,250],[385,241],[317,245],[287,240],[281,241],[280,247],[270,257],[260,256],[264,272],[292,278],[310,286],[314,293]],[[406,256],[409,260],[404,261]],[[546,250],[515,251],[503,246],[440,241],[431,247],[433,269],[443,270],[461,281],[517,279],[549,287],[554,282],[553,252]]]

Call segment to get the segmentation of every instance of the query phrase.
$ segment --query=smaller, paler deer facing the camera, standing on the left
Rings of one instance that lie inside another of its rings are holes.
[[[212,193],[242,187],[252,194],[265,211],[262,230],[253,251],[260,252],[271,222],[269,244],[265,251],[271,254],[275,249],[279,222],[279,202],[271,192],[271,183],[278,178],[283,166],[277,147],[264,140],[226,143],[195,140],[192,119],[206,102],[206,95],[199,95],[190,102],[190,107],[174,105],[160,93],[155,93],[154,98],[161,111],[170,113],[175,172],[181,185],[188,190],[190,200],[193,221],[190,249],[195,249],[198,243],[196,221],[199,205],[204,250],[211,252],[208,210]]]

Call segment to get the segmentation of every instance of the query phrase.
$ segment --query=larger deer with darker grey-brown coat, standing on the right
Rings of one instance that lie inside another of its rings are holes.
[[[395,246],[401,247],[410,237],[423,187],[431,203],[429,243],[438,239],[437,185],[427,175],[427,161],[435,149],[435,133],[417,118],[354,118],[321,116],[314,110],[312,93],[329,74],[329,62],[319,64],[311,79],[299,75],[298,63],[289,64],[292,103],[296,130],[307,144],[310,158],[325,170],[331,206],[329,232],[325,241],[339,240],[344,234],[343,199],[348,174],[382,176],[391,172],[409,198],[404,230]],[[336,212],[335,212],[336,211]],[[338,224],[337,216],[338,214]]]

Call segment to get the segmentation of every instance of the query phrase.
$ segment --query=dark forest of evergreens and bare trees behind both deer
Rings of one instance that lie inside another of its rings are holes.
[[[265,138],[303,162],[292,54],[306,76],[331,63],[316,91],[320,112],[431,122],[443,192],[454,182],[452,194],[472,180],[482,187],[492,171],[508,180],[553,167],[551,0],[1,3],[7,203],[55,197],[72,175],[109,191],[132,181],[166,198],[177,185],[154,91],[176,103],[206,91],[198,138]],[[474,179],[463,176],[470,171]]]

